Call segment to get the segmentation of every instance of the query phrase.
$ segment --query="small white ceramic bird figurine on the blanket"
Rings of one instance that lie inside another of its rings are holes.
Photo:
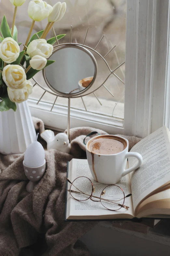
[[[51,130],[45,130],[41,133],[41,138],[47,142],[47,149],[57,149],[64,153],[70,153],[70,143],[66,133],[61,132],[56,136]]]

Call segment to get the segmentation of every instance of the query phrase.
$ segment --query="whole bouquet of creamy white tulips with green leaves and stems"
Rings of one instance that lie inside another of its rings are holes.
[[[47,60],[53,51],[56,37],[45,40],[54,22],[62,19],[66,10],[66,3],[58,2],[53,7],[42,0],[31,0],[28,6],[28,14],[33,20],[23,51],[20,52],[22,43],[17,43],[17,27],[15,18],[17,8],[26,0],[10,0],[15,6],[12,28],[9,29],[7,19],[4,16],[0,31],[0,111],[13,109],[16,111],[16,103],[28,99],[32,93],[33,85],[29,79],[37,72],[52,64],[53,60]],[[45,30],[39,31],[31,37],[35,21],[42,21],[48,17]],[[57,39],[65,36],[58,35]]]

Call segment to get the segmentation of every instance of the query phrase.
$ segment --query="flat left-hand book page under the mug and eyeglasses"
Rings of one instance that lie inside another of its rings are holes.
[[[71,176],[71,177],[70,177]],[[84,159],[73,159],[72,162],[72,174],[69,175],[70,181],[73,181],[77,177],[86,176],[91,179],[93,186],[95,187],[95,193],[93,196],[100,197],[102,190],[107,186],[106,184],[99,183],[92,178],[92,174],[89,169],[89,165],[87,160]],[[125,196],[131,193],[130,187],[130,177],[129,174],[123,177],[120,183],[117,184],[120,186]],[[68,183],[68,189],[70,188],[70,183]],[[122,196],[122,195],[121,195]],[[94,200],[96,200],[94,198]],[[125,198],[125,205],[129,206],[130,208],[127,210],[125,208],[121,208],[118,211],[109,211],[107,210],[100,202],[94,202],[90,199],[87,201],[77,201],[68,192],[67,195],[67,206],[69,205],[70,215],[77,215],[77,216],[84,216],[84,215],[110,215],[110,214],[120,214],[120,213],[127,213],[134,216],[133,211],[133,204],[132,204],[132,196]]]

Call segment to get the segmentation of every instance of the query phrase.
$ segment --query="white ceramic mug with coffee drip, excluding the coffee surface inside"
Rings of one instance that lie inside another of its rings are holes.
[[[96,139],[107,138],[121,142],[124,145],[123,151],[112,155],[99,155],[90,150],[89,145]],[[98,135],[90,139],[86,145],[87,160],[94,180],[104,184],[115,184],[128,173],[136,170],[142,164],[142,156],[136,152],[128,152],[128,140],[117,135]],[[126,169],[127,158],[135,157],[137,164]]]

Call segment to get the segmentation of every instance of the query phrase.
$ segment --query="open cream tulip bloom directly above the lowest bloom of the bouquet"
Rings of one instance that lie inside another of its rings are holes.
[[[26,84],[26,74],[19,65],[7,65],[2,72],[2,78],[11,89],[22,89]]]

